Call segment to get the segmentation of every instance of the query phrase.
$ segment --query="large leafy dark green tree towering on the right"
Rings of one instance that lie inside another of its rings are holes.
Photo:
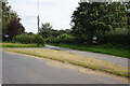
[[[72,18],[74,35],[92,42],[98,32],[125,27],[127,11],[120,2],[81,2]]]

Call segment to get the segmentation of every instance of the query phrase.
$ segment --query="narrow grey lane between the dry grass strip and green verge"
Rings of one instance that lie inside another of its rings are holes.
[[[46,45],[46,46],[47,46],[47,48],[50,48],[50,49],[65,51],[65,52],[82,55],[82,56],[86,56],[86,57],[91,57],[91,58],[105,60],[105,61],[109,61],[109,62],[114,62],[114,63],[117,63],[117,64],[128,67],[128,60],[129,60],[128,58],[104,55],[104,54],[98,54],[98,53],[76,51],[76,49],[70,49],[70,48],[63,48],[63,47],[53,46],[53,45]]]

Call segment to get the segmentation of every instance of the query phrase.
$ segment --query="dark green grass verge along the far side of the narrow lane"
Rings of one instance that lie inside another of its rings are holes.
[[[87,45],[87,44],[52,44],[52,43],[50,45],[130,58],[130,51],[128,51],[127,46],[125,47],[123,46],[112,46],[109,44]]]

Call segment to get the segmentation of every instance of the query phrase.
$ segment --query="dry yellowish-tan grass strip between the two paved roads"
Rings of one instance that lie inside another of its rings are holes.
[[[115,64],[113,62],[94,59],[94,58],[83,57],[76,54],[70,54],[68,52],[47,49],[47,48],[42,48],[42,49],[41,48],[37,48],[37,49],[36,48],[35,49],[11,48],[5,51],[49,58],[49,59],[58,60],[62,62],[68,62],[68,63],[90,68],[93,70],[100,70],[100,71],[105,71],[112,74],[126,76],[126,77],[130,76],[128,73],[127,67]]]

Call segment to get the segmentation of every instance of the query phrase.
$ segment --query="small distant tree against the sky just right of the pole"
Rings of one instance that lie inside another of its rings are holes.
[[[39,34],[43,38],[49,38],[52,35],[52,26],[49,23],[42,24],[39,30]]]

